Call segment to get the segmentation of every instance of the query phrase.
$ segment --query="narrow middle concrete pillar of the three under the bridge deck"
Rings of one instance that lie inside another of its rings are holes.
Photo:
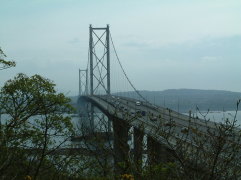
[[[140,179],[142,172],[143,131],[134,128],[134,163],[136,166],[135,179]]]

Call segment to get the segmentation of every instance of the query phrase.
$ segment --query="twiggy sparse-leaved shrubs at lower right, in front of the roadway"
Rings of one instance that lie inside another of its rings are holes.
[[[236,115],[239,104],[240,100],[237,102]],[[206,115],[203,114],[204,120],[190,118],[187,127],[177,133],[180,124],[172,120],[175,112],[169,110],[169,113],[170,122],[166,123],[169,128],[161,127],[159,135],[164,137],[169,151],[172,152],[171,161],[175,165],[172,175],[175,178],[185,180],[241,178],[239,162],[241,134],[236,124],[236,115],[233,119],[225,119],[223,123],[214,123],[206,119]],[[173,135],[176,137],[174,144]]]

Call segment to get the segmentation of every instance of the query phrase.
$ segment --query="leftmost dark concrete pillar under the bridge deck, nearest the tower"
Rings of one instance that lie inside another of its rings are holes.
[[[112,119],[114,131],[114,169],[115,174],[128,173],[129,169],[129,145],[128,145],[128,131],[129,124],[123,120]]]

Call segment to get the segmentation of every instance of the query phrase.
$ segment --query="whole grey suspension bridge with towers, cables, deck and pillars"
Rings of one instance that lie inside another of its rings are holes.
[[[135,68],[138,68],[136,66]],[[89,27],[87,68],[79,70],[80,116],[88,133],[107,132],[113,136],[114,167],[124,173],[119,163],[128,159],[142,161],[143,138],[147,138],[149,163],[168,161],[177,141],[195,146],[196,131],[215,131],[215,124],[151,104],[127,76],[110,33],[109,25]],[[100,113],[104,114],[100,115]],[[133,147],[128,144],[133,131]]]

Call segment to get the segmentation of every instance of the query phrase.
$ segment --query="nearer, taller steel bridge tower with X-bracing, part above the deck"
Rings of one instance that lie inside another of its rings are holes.
[[[110,94],[109,25],[104,28],[90,25],[89,31],[90,95],[94,95],[99,87],[103,89],[102,94]],[[98,51],[100,49],[103,51]]]

